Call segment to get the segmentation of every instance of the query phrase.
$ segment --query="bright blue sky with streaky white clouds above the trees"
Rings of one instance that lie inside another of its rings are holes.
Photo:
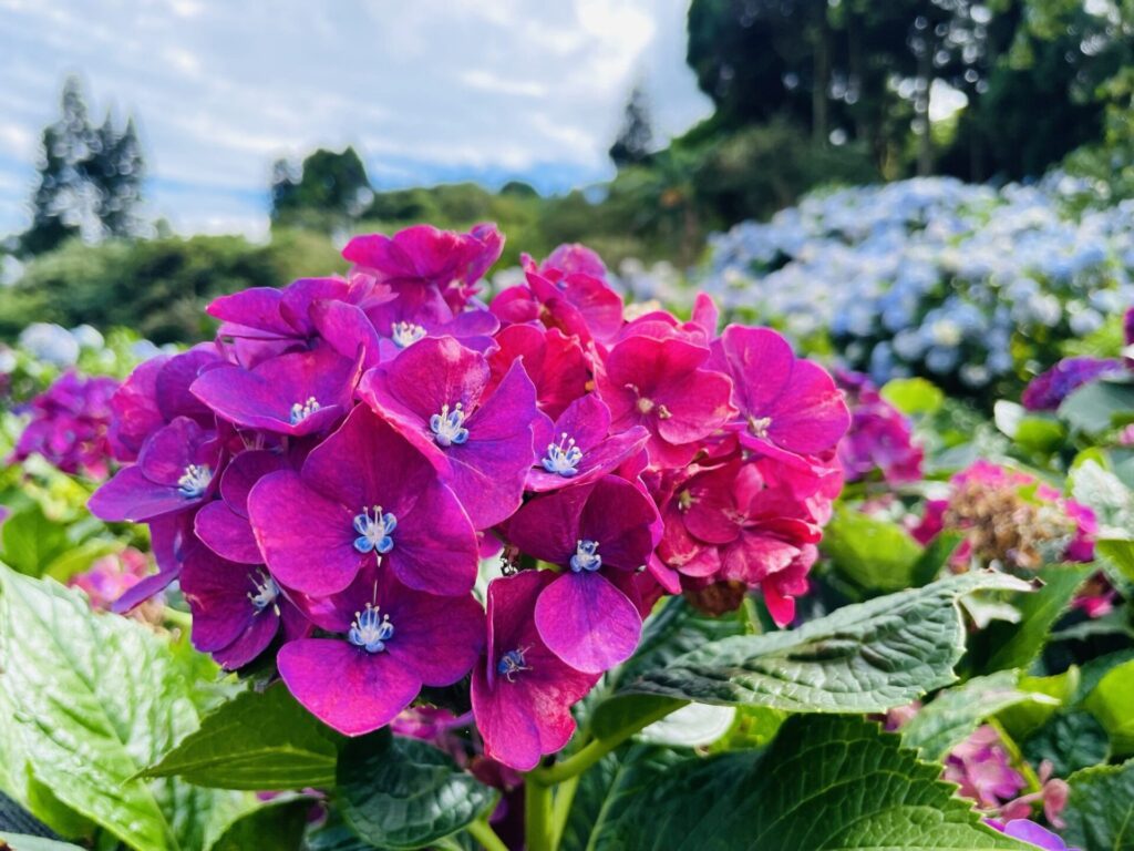
[[[268,228],[271,163],[353,144],[378,187],[602,180],[631,89],[659,142],[711,112],[688,0],[0,0],[0,235],[23,229],[70,74],[133,115],[149,212]]]

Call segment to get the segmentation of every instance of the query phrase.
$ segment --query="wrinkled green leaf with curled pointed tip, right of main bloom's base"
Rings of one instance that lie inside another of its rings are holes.
[[[643,674],[628,690],[789,711],[885,711],[956,679],[953,667],[965,647],[963,595],[1027,588],[1002,573],[951,576],[787,632],[714,641]]]

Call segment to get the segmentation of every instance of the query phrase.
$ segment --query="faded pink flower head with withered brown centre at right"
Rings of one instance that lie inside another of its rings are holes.
[[[914,537],[928,544],[942,529],[965,533],[953,564],[996,564],[1008,571],[1035,571],[1056,561],[1094,558],[1094,512],[1049,485],[978,461],[950,479],[947,498],[925,504]]]

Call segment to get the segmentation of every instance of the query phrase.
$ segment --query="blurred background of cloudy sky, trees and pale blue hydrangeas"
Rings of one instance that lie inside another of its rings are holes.
[[[1134,301],[1131,0],[2,0],[0,57],[9,343],[192,342],[420,221],[978,404]]]

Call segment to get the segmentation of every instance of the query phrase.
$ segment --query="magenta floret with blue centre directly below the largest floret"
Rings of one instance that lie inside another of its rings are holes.
[[[386,726],[422,685],[465,676],[484,646],[484,612],[472,596],[435,597],[367,568],[312,620],[336,638],[289,641],[280,676],[328,726],[362,735]]]

